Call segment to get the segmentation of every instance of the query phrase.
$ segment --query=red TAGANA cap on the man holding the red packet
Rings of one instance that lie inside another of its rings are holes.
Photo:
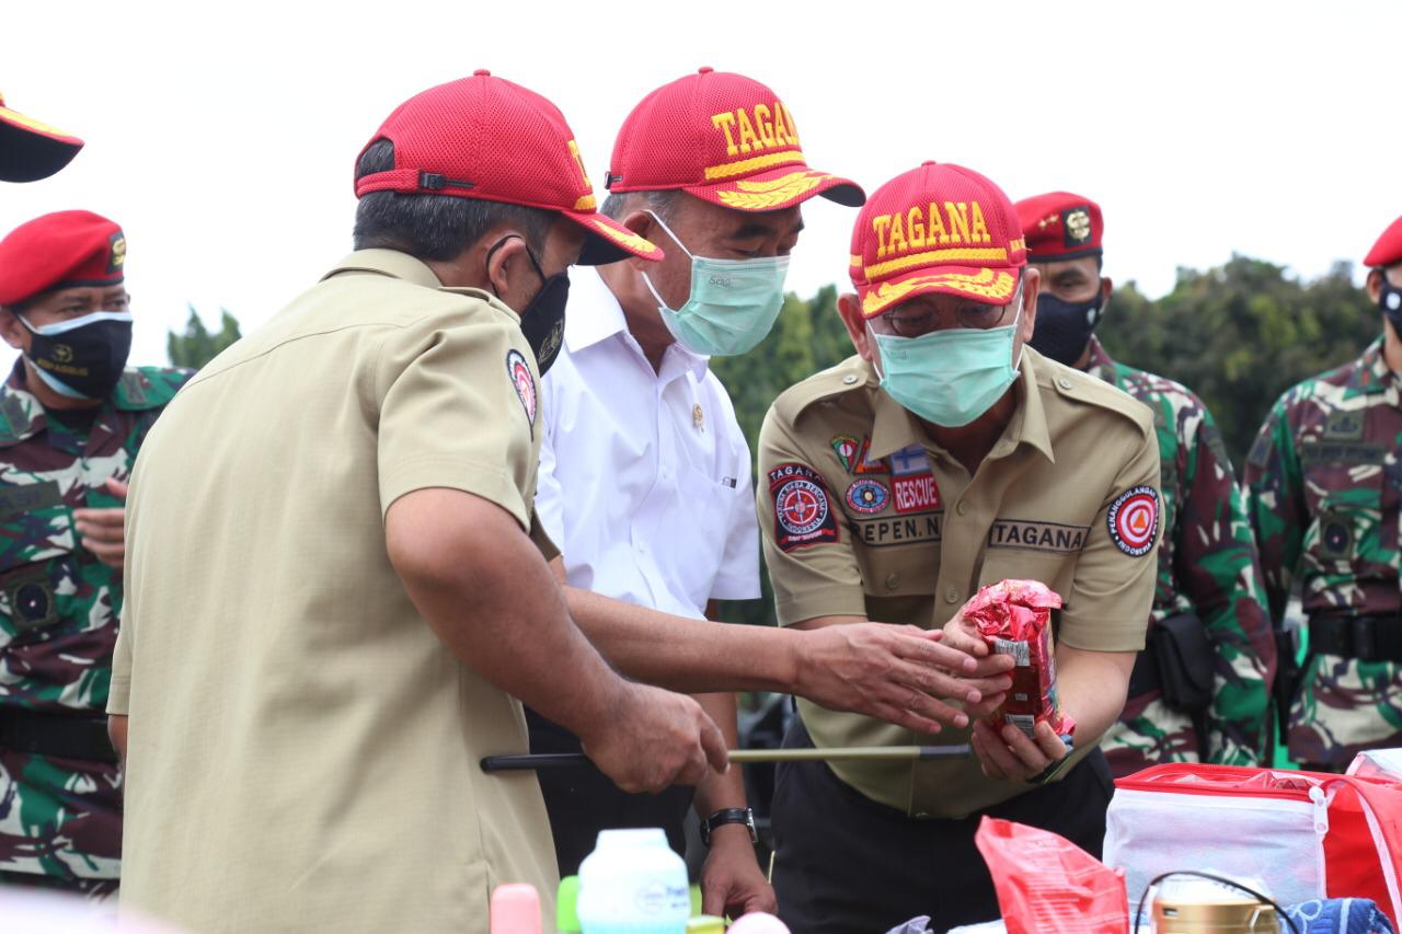
[[[850,272],[868,318],[930,293],[1007,304],[1026,262],[1008,196],[948,163],[924,163],[878,188],[852,229]]]

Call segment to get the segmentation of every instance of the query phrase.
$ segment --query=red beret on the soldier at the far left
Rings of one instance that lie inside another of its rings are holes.
[[[126,237],[91,210],[60,210],[20,224],[0,240],[0,304],[42,292],[122,282]]]

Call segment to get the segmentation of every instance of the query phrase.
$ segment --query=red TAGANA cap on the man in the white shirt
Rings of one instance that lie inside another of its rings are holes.
[[[778,210],[813,195],[848,208],[866,199],[857,182],[808,167],[794,115],[774,91],[712,69],[663,84],[632,108],[604,188],[680,189],[736,210]]]

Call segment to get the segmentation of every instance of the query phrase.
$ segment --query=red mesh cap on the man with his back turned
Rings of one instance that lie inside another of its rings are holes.
[[[655,244],[599,213],[559,108],[485,69],[411,97],[370,143],[381,139],[394,143],[394,168],[358,178],[356,198],[394,191],[558,210],[589,234],[582,265],[662,259]]]

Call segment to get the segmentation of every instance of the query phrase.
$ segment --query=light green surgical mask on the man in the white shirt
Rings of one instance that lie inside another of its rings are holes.
[[[680,309],[669,309],[648,273],[642,273],[672,337],[693,353],[705,356],[733,356],[753,349],[768,335],[784,307],[789,258],[697,257],[660,217],[652,217],[691,258],[691,295]]]

